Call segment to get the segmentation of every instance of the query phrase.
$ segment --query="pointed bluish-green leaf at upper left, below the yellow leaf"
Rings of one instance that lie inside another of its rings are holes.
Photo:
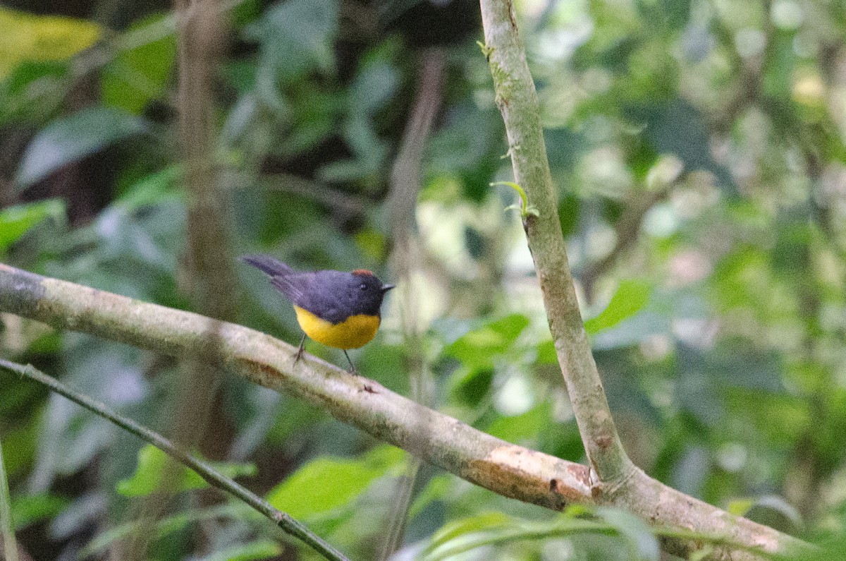
[[[74,160],[146,131],[146,121],[118,108],[85,108],[41,129],[26,147],[15,183],[23,189]]]

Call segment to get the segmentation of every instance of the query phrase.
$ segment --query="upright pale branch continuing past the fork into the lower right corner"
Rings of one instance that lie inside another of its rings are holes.
[[[535,84],[526,64],[514,7],[511,0],[481,0],[481,14],[485,30],[483,52],[490,64],[497,106],[508,134],[514,181],[525,190],[529,208],[536,209],[536,214],[534,210],[523,214],[523,225],[543,292],[558,363],[593,469],[591,475],[596,475],[596,480],[591,477],[593,499],[597,503],[625,508],[656,526],[722,534],[733,542],[760,546],[766,551],[797,547],[801,542],[790,536],[734,517],[665,486],[635,467],[626,455],[575,296]],[[670,553],[687,557],[699,549],[701,543],[683,538],[667,539],[663,546]],[[718,549],[715,557],[756,558],[754,553],[730,546]]]

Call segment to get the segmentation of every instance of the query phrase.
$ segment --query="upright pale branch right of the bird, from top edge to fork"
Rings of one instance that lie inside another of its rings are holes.
[[[558,363],[591,467],[600,482],[613,486],[624,480],[633,466],[614,426],[582,324],[558,221],[535,84],[517,32],[514,7],[510,0],[481,0],[481,14],[485,52],[508,133],[514,181],[523,186],[530,205],[538,210],[537,215],[525,216],[524,225]]]

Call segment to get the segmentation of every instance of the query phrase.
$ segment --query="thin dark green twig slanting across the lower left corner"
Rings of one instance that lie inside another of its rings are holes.
[[[271,519],[277,526],[279,526],[279,528],[291,536],[299,538],[299,540],[308,544],[323,557],[332,559],[333,561],[342,561],[347,559],[343,553],[340,553],[327,542],[324,542],[320,536],[317,536],[301,522],[291,518],[289,514],[283,513],[277,508],[273,508],[270,503],[267,503],[254,492],[251,492],[225,475],[222,475],[216,469],[212,468],[211,465],[206,464],[206,462],[201,459],[195,458],[190,453],[184,452],[181,448],[176,447],[173,442],[170,442],[164,436],[153,432],[145,426],[139,425],[132,419],[128,419],[127,417],[118,414],[103,403],[100,403],[95,399],[91,399],[91,397],[85,396],[80,392],[76,392],[68,386],[65,386],[62,382],[44,374],[31,365],[17,364],[0,358],[0,368],[6,369],[9,372],[14,372],[15,374],[24,376],[25,378],[29,378],[30,380],[35,380],[36,382],[47,386],[53,392],[67,397],[70,401],[81,405],[103,419],[107,419],[127,432],[138,436],[141,440],[149,442],[163,453],[166,453],[171,458],[179,461],[179,463],[193,469],[197,475],[200,475],[209,485],[217,487],[224,492],[228,492],[261,514],[264,514],[267,518]]]

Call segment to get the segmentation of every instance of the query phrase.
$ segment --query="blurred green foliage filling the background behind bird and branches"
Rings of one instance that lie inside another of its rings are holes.
[[[176,19],[160,3],[107,4],[0,8],[0,259],[187,308]],[[212,120],[233,246],[398,280],[392,166],[419,68],[442,56],[415,270],[354,360],[409,394],[400,318],[414,317],[434,407],[583,460],[519,216],[504,212],[514,192],[490,186],[512,177],[475,44],[478,5],[227,8]],[[519,0],[516,10],[583,317],[627,450],[667,484],[831,552],[815,558],[843,558],[843,6]],[[295,343],[288,304],[254,271],[239,275],[239,295],[209,297],[237,297],[242,323]],[[0,325],[3,356],[167,429],[173,360],[8,314]],[[344,364],[332,349],[308,350]],[[149,492],[161,458],[41,388],[2,384],[22,549],[107,558],[135,529],[140,499],[127,495]],[[352,558],[376,558],[404,454],[232,377],[207,432],[209,457],[245,485]],[[199,485],[187,474],[182,483]],[[162,561],[314,558],[209,492],[180,493],[151,535]],[[556,515],[424,467],[396,558],[459,549],[454,558],[657,558],[655,538],[625,513]]]

